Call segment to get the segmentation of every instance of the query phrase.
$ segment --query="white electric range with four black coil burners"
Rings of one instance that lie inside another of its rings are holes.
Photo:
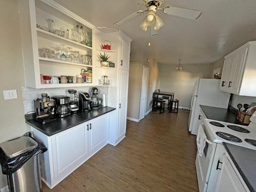
[[[207,137],[203,155],[197,153],[196,168],[200,192],[215,191],[222,155],[222,142],[256,150],[256,112],[248,126],[204,119],[200,124]]]

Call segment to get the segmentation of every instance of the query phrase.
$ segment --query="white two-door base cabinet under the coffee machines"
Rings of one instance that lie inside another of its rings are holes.
[[[32,127],[33,136],[48,151],[40,155],[42,180],[49,188],[70,175],[108,143],[109,114],[74,126],[51,137]]]

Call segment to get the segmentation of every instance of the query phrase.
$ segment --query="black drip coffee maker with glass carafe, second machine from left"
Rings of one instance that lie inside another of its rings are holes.
[[[59,95],[52,97],[56,102],[56,115],[58,117],[66,117],[70,115],[71,108],[69,106],[70,97]]]

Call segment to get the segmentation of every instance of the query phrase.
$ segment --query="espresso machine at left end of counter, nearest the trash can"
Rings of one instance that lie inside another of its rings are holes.
[[[55,121],[54,116],[56,110],[55,100],[50,99],[47,93],[41,94],[41,99],[34,100],[34,111],[36,112],[36,119],[42,124]]]

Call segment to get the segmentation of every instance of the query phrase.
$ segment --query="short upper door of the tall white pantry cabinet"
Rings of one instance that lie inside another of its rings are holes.
[[[120,57],[120,67],[122,70],[129,70],[130,65],[130,45],[129,39],[121,35],[121,57]]]

